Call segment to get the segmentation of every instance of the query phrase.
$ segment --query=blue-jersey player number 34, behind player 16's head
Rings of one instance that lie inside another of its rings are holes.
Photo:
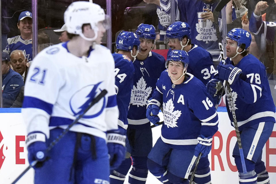
[[[189,67],[187,72],[193,74],[204,85],[214,76],[216,70],[213,59],[209,52],[191,42],[191,28],[186,22],[174,22],[166,31],[164,43],[168,44],[170,50],[184,50],[189,55]]]

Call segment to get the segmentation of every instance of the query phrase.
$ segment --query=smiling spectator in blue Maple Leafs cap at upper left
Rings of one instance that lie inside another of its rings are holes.
[[[11,53],[14,50],[23,50],[27,62],[33,59],[33,19],[32,13],[29,11],[21,12],[18,18],[17,27],[20,35],[8,38],[5,52]]]

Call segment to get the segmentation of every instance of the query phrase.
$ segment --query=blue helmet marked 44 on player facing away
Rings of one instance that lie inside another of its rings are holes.
[[[140,48],[140,40],[133,32],[121,31],[116,41],[116,49],[131,51],[134,46]]]

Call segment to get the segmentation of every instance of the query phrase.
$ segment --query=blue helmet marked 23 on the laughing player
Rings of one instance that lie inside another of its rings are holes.
[[[152,39],[155,40],[156,33],[153,25],[140,24],[137,27],[136,34],[139,38]]]

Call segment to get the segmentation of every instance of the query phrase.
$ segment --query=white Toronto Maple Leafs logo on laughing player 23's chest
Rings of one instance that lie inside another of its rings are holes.
[[[151,91],[151,87],[146,88],[146,81],[141,77],[139,81],[136,82],[136,86],[133,85],[130,103],[132,105],[137,105],[137,107],[146,105]]]

